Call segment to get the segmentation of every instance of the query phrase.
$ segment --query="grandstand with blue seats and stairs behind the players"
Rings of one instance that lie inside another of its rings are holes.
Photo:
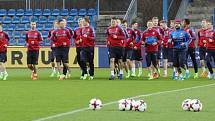
[[[91,25],[96,29],[96,44],[102,45],[105,44],[105,30],[112,16],[127,19],[129,22],[137,18],[142,30],[148,19],[153,16],[162,19],[164,14],[168,15],[169,20],[190,18],[192,26],[199,28],[202,18],[212,18],[215,3],[213,0],[189,1],[168,0],[164,5],[162,0],[62,0],[57,4],[55,0],[1,0],[0,21],[10,36],[10,45],[23,46],[25,31],[30,27],[29,22],[36,21],[37,29],[44,37],[43,46],[48,46],[48,30],[55,19],[66,18],[68,27],[74,29],[78,26],[78,18],[89,16]]]

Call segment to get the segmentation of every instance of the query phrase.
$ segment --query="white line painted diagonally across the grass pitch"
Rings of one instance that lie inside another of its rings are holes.
[[[134,96],[134,97],[130,97],[130,98],[137,99],[137,98],[142,98],[142,97],[148,97],[148,96],[154,96],[154,95],[160,95],[160,94],[172,93],[172,92],[180,92],[180,91],[191,90],[191,89],[202,88],[202,87],[209,87],[209,86],[214,86],[214,85],[215,85],[215,83],[208,84],[208,85],[195,86],[195,87],[188,87],[188,88],[183,88],[183,89],[169,90],[169,91],[163,91],[163,92],[155,92],[155,93],[150,93],[150,94],[145,94],[145,95],[138,95],[138,96]],[[105,104],[103,104],[103,106],[112,105],[115,103],[118,103],[118,101],[105,103]],[[86,110],[89,110],[89,108],[82,108],[82,109],[72,110],[72,111],[65,112],[65,113],[59,113],[56,115],[36,119],[33,121],[45,121],[45,120],[54,119],[54,118],[58,118],[58,117],[62,117],[62,116],[66,116],[66,115],[70,115],[70,114],[74,114],[74,113],[78,113],[78,112],[83,112]]]

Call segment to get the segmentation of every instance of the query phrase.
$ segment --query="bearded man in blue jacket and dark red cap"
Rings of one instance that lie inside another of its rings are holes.
[[[173,79],[184,80],[181,68],[187,70],[186,53],[190,36],[181,29],[181,21],[175,20],[175,31],[170,33],[170,41],[173,44]],[[178,73],[178,76],[176,74]],[[189,71],[186,71],[185,77],[188,78]]]

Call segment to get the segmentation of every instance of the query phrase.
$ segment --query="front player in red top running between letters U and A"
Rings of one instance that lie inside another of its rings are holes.
[[[69,68],[68,56],[71,34],[69,30],[65,28],[65,23],[62,19],[58,20],[58,29],[53,32],[51,39],[55,42],[56,46],[55,51],[58,70],[61,69],[61,63],[63,64],[63,74],[61,74],[59,80],[64,80],[66,79]]]

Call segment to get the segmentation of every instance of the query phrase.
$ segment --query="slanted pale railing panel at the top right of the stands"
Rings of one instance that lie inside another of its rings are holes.
[[[189,4],[189,0],[182,0],[179,10],[176,14],[176,19],[184,18],[188,4]]]

